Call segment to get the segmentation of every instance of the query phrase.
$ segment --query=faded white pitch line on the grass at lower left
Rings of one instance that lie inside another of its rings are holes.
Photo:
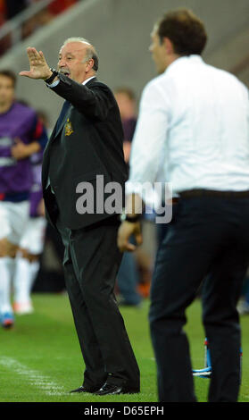
[[[29,369],[28,366],[22,365],[18,360],[12,357],[0,357],[0,365],[12,370],[15,374],[20,374],[26,382],[30,385],[36,386],[39,390],[43,391],[46,395],[63,395],[67,393],[63,387],[39,371]]]

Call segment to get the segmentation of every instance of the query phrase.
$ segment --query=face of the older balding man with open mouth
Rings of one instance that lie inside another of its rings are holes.
[[[89,63],[84,63],[87,46],[83,42],[69,42],[62,46],[59,54],[58,70],[78,83],[87,79],[89,71]]]

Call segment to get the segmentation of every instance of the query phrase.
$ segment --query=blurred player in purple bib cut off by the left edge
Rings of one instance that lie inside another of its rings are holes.
[[[12,71],[0,71],[0,315],[4,327],[13,323],[14,258],[29,220],[30,156],[47,141],[36,112],[15,100],[15,83]]]

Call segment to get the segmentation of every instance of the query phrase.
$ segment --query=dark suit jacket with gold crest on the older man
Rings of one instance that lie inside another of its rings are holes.
[[[93,214],[78,213],[76,202],[82,196],[76,192],[79,182],[91,182],[96,194],[95,177],[102,174],[104,185],[119,182],[124,193],[127,169],[122,149],[123,130],[118,105],[104,83],[92,79],[80,85],[62,74],[59,77],[60,83],[52,89],[71,106],[57,129],[55,125],[44,153],[42,183],[46,216],[55,225],[60,212],[63,225],[80,229],[110,214],[97,214],[95,210]],[[48,179],[54,194],[47,188]]]

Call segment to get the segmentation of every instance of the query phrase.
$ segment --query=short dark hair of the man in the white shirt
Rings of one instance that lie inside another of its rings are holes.
[[[188,9],[165,13],[156,31],[161,42],[164,37],[170,39],[178,55],[201,55],[207,41],[203,21]]]

